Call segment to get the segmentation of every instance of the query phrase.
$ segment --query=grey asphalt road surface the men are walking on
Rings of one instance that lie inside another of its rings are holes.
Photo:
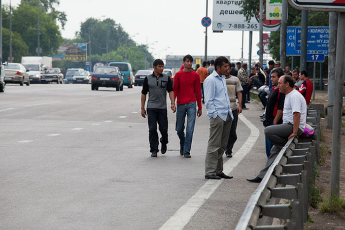
[[[151,158],[141,87],[7,85],[0,94],[0,229],[234,229],[266,162],[257,103],[240,115],[232,180],[205,180],[208,119],[191,159],[169,144]]]

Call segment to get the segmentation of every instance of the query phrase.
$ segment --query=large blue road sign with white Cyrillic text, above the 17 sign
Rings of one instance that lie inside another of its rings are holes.
[[[328,27],[308,27],[307,50],[328,51],[328,31]],[[301,50],[301,33],[301,27],[296,27],[296,50]]]

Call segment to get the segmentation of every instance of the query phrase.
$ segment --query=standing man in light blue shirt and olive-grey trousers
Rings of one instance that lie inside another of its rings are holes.
[[[205,106],[209,119],[205,179],[233,178],[223,172],[223,154],[228,144],[231,122],[234,119],[224,76],[229,72],[228,59],[218,57],[214,61],[214,71],[204,81]]]

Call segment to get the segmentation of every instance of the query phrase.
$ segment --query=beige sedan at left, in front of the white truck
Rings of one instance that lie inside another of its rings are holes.
[[[4,67],[5,83],[14,83],[30,85],[30,75],[23,64],[20,63],[7,63]]]

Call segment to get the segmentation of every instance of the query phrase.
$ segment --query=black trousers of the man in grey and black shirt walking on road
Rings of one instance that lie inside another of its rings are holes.
[[[148,121],[148,140],[150,142],[150,152],[158,150],[158,132],[157,123],[159,126],[159,131],[161,132],[161,143],[168,144],[168,115],[167,109],[154,109],[147,108],[147,121]]]

